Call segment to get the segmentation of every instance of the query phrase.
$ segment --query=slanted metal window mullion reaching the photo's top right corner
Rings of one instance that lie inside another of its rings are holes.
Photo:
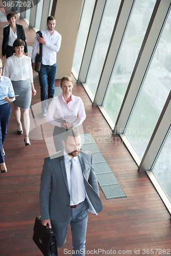
[[[158,1],[156,3],[152,18],[149,23],[149,27],[145,34],[144,40],[142,42],[141,50],[137,57],[137,61],[132,72],[132,76],[129,82],[129,86],[121,105],[120,112],[118,114],[114,132],[119,134],[120,131],[125,130],[128,120],[130,118],[130,113],[133,111],[133,106],[136,102],[144,75],[148,70],[150,61],[152,59],[154,49],[156,47],[156,42],[159,39],[166,14],[169,10],[170,1]]]

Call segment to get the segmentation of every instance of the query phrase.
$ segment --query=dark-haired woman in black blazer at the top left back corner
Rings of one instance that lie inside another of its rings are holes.
[[[20,38],[23,41],[25,41],[25,54],[28,56],[28,49],[26,44],[26,36],[25,31],[23,30],[23,27],[21,25],[16,24],[16,16],[14,13],[9,13],[7,15],[7,20],[9,22],[9,26],[4,28],[3,31],[3,45],[2,45],[2,56],[3,58],[10,57],[13,55],[14,48],[13,48],[13,42]]]

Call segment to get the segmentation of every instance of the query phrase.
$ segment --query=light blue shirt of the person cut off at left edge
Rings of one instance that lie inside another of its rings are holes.
[[[8,103],[7,100],[3,100],[5,97],[13,97],[14,90],[12,87],[12,82],[8,77],[1,76],[0,78],[0,105],[3,105],[5,103]],[[12,99],[12,101],[15,100],[15,97]]]

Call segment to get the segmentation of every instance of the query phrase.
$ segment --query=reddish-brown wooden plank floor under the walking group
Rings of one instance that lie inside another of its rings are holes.
[[[22,20],[18,23],[25,26],[28,45],[33,44],[33,30],[28,29]],[[0,23],[1,41],[5,24]],[[32,236],[35,217],[40,215],[42,165],[50,152],[47,147],[51,150],[51,142],[44,139],[52,136],[52,127],[47,127],[44,118],[40,117],[37,73],[34,81],[37,95],[32,98],[30,112],[32,145],[25,146],[23,135],[16,133],[13,113],[4,142],[8,173],[0,174],[0,255],[3,256],[42,255]],[[171,254],[170,215],[150,179],[145,172],[137,172],[137,165],[127,148],[117,135],[111,135],[107,122],[99,109],[92,106],[81,84],[75,84],[73,94],[80,96],[85,105],[84,132],[91,132],[127,195],[127,198],[106,200],[100,189],[104,208],[97,217],[89,214],[86,255]],[[70,228],[59,256],[71,255],[69,250],[72,250]]]

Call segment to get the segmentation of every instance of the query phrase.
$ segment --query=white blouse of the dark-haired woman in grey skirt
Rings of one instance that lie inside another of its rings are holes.
[[[30,79],[30,82],[33,82],[31,58],[26,55],[18,58],[14,53],[6,59],[3,75],[9,77],[11,81]]]

